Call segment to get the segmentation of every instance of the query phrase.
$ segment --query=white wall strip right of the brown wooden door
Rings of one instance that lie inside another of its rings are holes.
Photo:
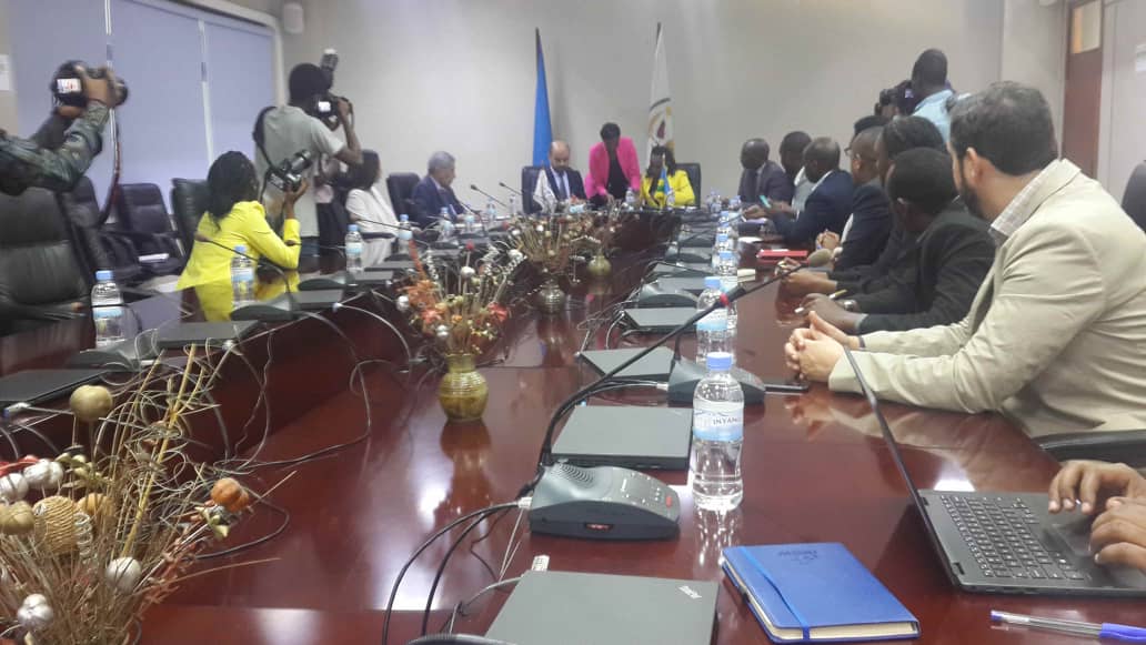
[[[1105,11],[1098,179],[1121,200],[1146,159],[1146,70],[1135,70],[1135,49],[1146,46],[1146,1],[1108,2]]]

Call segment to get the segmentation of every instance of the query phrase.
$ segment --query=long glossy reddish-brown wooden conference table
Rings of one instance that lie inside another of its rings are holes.
[[[199,571],[272,561],[188,580],[148,613],[142,642],[380,643],[390,589],[410,553],[462,514],[512,500],[534,474],[554,409],[594,378],[576,359],[584,335],[579,325],[622,299],[642,277],[644,262],[620,259],[614,267],[604,283],[586,281],[572,288],[564,314],[518,313],[493,356],[496,362],[481,370],[489,384],[489,406],[480,424],[446,423],[434,396],[437,378],[421,379],[415,369],[407,379],[387,363],[370,363],[363,370],[372,416],[369,438],[324,458],[258,471],[252,481],[257,487],[295,473],[272,496],[290,513],[289,524],[266,543],[206,560]],[[173,300],[157,297],[134,307],[146,324],[163,324],[180,315]],[[183,300],[194,304],[191,298]],[[400,321],[385,301],[358,297],[352,304]],[[766,380],[788,377],[782,345],[798,324],[794,306],[776,286],[740,301],[740,367]],[[370,316],[353,310],[322,315],[353,341],[359,359],[405,363],[393,333]],[[70,354],[91,346],[89,328],[88,321],[69,321],[0,339],[0,373],[61,365]],[[628,340],[638,345],[653,338]],[[595,341],[599,347],[602,336]],[[250,454],[264,428],[267,436],[259,453],[264,461],[288,459],[359,436],[364,428],[363,399],[356,385],[350,386],[355,359],[345,345],[335,330],[311,318],[265,325],[245,339],[243,352],[256,369],[235,362],[215,393],[230,428],[230,450]],[[692,347],[686,339],[685,353]],[[268,360],[270,367],[264,370]],[[262,373],[265,407],[256,404]],[[647,392],[605,396],[594,403],[664,404],[664,394]],[[1037,491],[1057,471],[1053,459],[998,416],[895,404],[885,411],[920,487]],[[719,558],[728,545],[842,542],[918,616],[924,643],[1078,640],[992,626],[991,609],[1093,622],[1146,621],[1141,601],[986,596],[953,589],[863,399],[832,394],[823,386],[799,396],[770,394],[763,406],[746,409],[745,420],[745,496],[735,512],[721,517],[697,511],[686,473],[658,472],[681,495],[678,538],[579,541],[523,530],[508,576],[520,575],[535,556],[548,554],[550,569],[722,581]],[[236,439],[243,434],[240,428],[246,434],[244,441]],[[213,432],[213,439],[211,431],[197,439],[218,448],[219,432]],[[434,603],[432,628],[457,601],[494,581],[476,556],[499,568],[516,514],[502,518],[472,549],[471,537],[454,554]],[[282,521],[259,509],[221,546],[257,540]],[[473,535],[484,533],[482,528]],[[391,643],[418,635],[429,585],[449,542],[439,541],[407,574],[394,604]],[[500,592],[484,597],[458,620],[457,630],[482,634],[505,597]],[[715,643],[768,643],[727,582],[717,612]]]

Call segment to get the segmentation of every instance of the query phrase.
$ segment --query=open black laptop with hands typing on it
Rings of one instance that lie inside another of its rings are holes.
[[[1146,574],[1094,564],[1089,518],[1077,512],[1051,516],[1046,494],[916,488],[879,401],[850,353],[847,360],[859,377],[932,545],[957,587],[986,593],[1146,596]]]

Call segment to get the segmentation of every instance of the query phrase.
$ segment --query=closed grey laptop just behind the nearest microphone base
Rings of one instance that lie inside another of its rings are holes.
[[[579,406],[552,455],[578,466],[688,470],[691,446],[692,408]]]

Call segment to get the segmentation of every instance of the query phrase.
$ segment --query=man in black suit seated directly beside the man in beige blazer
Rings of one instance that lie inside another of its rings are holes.
[[[886,276],[839,282],[854,296],[833,301],[823,294],[804,299],[848,333],[904,331],[961,321],[995,260],[987,222],[967,213],[957,199],[951,158],[916,148],[895,158],[887,194],[909,234]]]

